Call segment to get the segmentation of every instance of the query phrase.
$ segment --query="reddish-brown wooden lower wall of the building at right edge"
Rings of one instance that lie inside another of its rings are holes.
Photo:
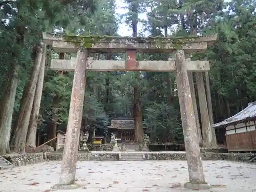
[[[229,152],[256,151],[256,131],[226,135]]]

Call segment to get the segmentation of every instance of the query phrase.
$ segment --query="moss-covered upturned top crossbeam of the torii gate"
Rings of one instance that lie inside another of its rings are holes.
[[[172,53],[183,49],[185,53],[202,52],[214,44],[217,34],[204,37],[113,37],[113,36],[67,36],[42,33],[44,43],[56,52],[75,53],[79,48],[96,53],[121,53],[136,50],[137,53]]]

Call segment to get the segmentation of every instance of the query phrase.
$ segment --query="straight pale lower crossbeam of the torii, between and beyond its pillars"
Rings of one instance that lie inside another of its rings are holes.
[[[62,60],[52,59],[52,70],[74,71],[76,59]],[[136,61],[137,66],[127,65],[127,61],[116,60],[92,60],[88,59],[87,70],[88,71],[175,71],[175,61]],[[184,63],[188,71],[209,71],[208,61],[189,61]]]

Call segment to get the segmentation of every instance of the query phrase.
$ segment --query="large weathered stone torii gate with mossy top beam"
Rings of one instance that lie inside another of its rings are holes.
[[[208,61],[190,61],[185,54],[205,51],[216,41],[217,34],[205,37],[143,38],[143,37],[94,37],[54,36],[43,33],[44,42],[56,52],[77,53],[76,59],[51,61],[51,69],[75,71],[71,94],[66,142],[63,151],[59,188],[75,182],[78,143],[82,119],[86,71],[176,71],[178,97],[185,140],[189,182],[186,188],[206,189],[197,135],[193,101],[189,87],[188,71],[209,71]],[[93,60],[89,53],[126,52],[127,60]],[[136,61],[136,53],[172,53],[175,60]],[[72,188],[72,187],[71,187]]]

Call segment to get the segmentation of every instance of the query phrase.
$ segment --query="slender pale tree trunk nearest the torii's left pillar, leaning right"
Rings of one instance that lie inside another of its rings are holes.
[[[26,145],[36,147],[36,131],[37,131],[37,122],[38,122],[38,115],[40,110],[40,103],[42,97],[42,88],[44,86],[44,77],[45,77],[45,59],[46,59],[46,45],[44,45],[41,65],[38,74],[38,80],[36,84],[34,102],[33,102],[33,109],[30,116],[28,134]]]

